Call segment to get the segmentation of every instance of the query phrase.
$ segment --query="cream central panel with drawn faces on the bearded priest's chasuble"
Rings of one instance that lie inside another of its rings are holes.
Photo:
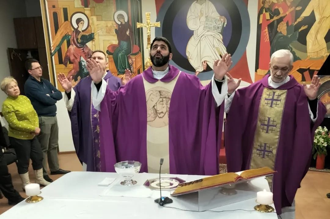
[[[148,172],[159,173],[160,158],[164,158],[161,173],[170,173],[168,112],[174,86],[181,71],[170,82],[149,83],[143,78],[147,100]]]

